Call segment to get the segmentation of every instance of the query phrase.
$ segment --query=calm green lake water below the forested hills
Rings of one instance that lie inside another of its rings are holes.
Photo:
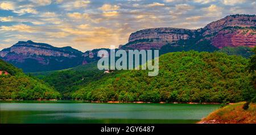
[[[0,102],[1,123],[196,123],[219,105]]]

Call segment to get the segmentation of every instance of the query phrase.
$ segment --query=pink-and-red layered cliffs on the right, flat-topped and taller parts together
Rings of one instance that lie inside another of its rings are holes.
[[[205,26],[190,30],[181,28],[150,28],[131,33],[129,43],[120,49],[161,49],[164,45],[183,46],[186,41],[192,46],[208,41],[216,48],[247,46],[256,43],[256,16],[229,15]],[[188,44],[187,44],[188,45]],[[199,45],[198,47],[201,48]],[[194,47],[195,48],[195,47]]]

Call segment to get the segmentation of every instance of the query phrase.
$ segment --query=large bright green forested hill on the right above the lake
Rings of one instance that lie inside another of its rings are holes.
[[[255,100],[249,59],[220,52],[175,52],[159,58],[159,75],[116,71],[76,91],[73,99],[120,102],[240,102]]]

